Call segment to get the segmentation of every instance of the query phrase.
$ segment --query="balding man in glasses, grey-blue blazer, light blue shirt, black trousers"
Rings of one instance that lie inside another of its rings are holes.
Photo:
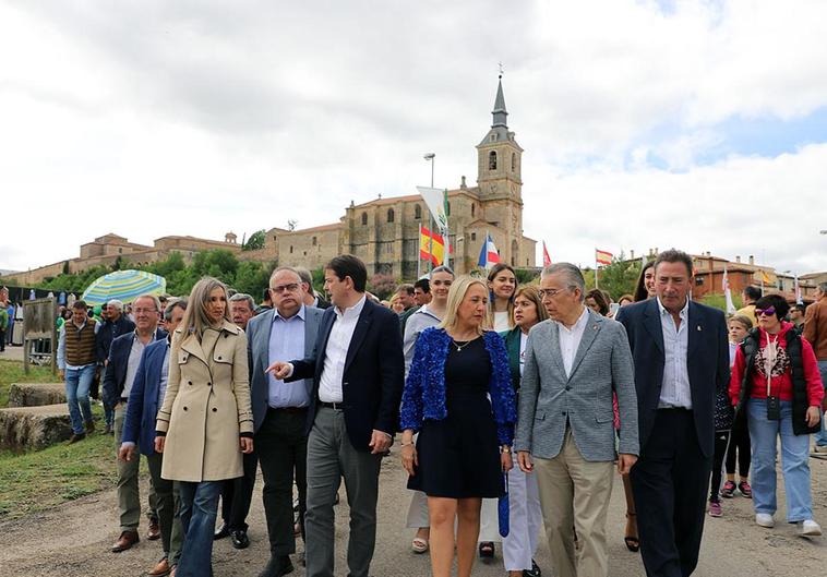
[[[271,560],[260,577],[280,577],[293,569],[293,471],[299,491],[299,521],[304,534],[307,494],[305,422],[313,380],[285,383],[265,370],[279,359],[311,357],[323,311],[303,304],[301,278],[290,267],[279,267],[269,279],[273,310],[248,324],[250,397],[255,428],[255,449],[261,462],[264,514],[267,519]]]

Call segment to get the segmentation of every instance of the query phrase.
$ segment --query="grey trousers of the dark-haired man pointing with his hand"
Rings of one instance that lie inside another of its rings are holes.
[[[345,413],[321,407],[308,438],[307,577],[333,577],[333,505],[345,479],[350,506],[349,577],[368,577],[376,543],[376,498],[382,457],[358,452],[345,430]]]

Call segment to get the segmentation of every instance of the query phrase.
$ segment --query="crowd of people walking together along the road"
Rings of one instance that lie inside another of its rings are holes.
[[[340,255],[324,268],[329,302],[293,267],[273,272],[259,305],[215,278],[187,298],[139,297],[130,312],[110,301],[99,321],[74,301],[58,347],[70,443],[95,430],[101,373],[118,455],[111,550],[140,540],[143,455],[146,537],[161,543],[151,576],[209,576],[214,540],[249,546],[261,469],[260,577],[293,561],[334,575],[343,481],[348,572],[367,577],[396,438],[411,552],[430,553],[435,577],[454,563],[468,577],[498,548],[510,577],[539,576],[543,527],[553,575],[609,575],[615,469],[628,550],[647,575],[691,575],[722,497],[752,498],[755,522],[774,526],[777,446],[787,521],[819,536],[808,457],[813,434],[813,454],[827,453],[827,284],[806,310],[748,287],[727,318],[692,300],[692,275],[686,253],[662,252],[613,304],[567,263],[523,286],[505,264],[487,276],[440,266],[380,301],[364,264]]]

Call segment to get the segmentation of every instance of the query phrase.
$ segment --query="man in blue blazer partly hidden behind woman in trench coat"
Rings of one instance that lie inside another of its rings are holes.
[[[118,458],[124,462],[137,464],[140,450],[146,457],[149,477],[155,488],[158,525],[164,555],[147,575],[166,575],[177,564],[181,555],[181,520],[178,517],[178,498],[172,481],[160,477],[164,455],[155,452],[155,419],[164,404],[164,393],[169,375],[169,339],[183,318],[187,301],[170,302],[164,311],[164,320],[169,328],[165,338],[148,345],[141,357],[132,390],[129,394],[123,418],[123,433]]]

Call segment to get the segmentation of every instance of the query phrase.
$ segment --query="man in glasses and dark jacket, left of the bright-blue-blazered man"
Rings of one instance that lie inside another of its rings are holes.
[[[116,454],[120,452],[123,434],[123,417],[127,412],[128,400],[132,384],[137,374],[141,356],[147,345],[154,340],[164,339],[167,334],[158,328],[160,318],[158,298],[142,294],[133,302],[135,329],[112,340],[109,358],[104,373],[104,404],[115,409],[115,443]],[[118,460],[118,508],[120,509],[121,534],[112,545],[112,552],[120,553],[130,549],[139,541],[137,526],[141,520],[141,500],[137,491],[139,459],[132,461]],[[151,504],[154,498],[151,498]],[[147,539],[160,537],[157,522],[152,519]]]

